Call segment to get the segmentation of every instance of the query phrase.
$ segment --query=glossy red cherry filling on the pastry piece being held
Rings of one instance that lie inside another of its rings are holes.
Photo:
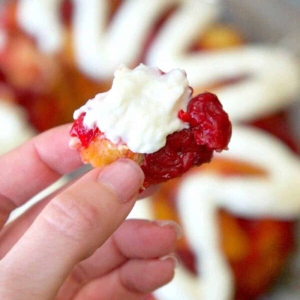
[[[101,133],[98,128],[87,129],[82,113],[70,130],[83,147]],[[191,98],[187,111],[180,110],[178,117],[190,124],[188,129],[173,132],[166,137],[164,147],[144,155],[141,168],[145,174],[144,186],[178,177],[190,167],[209,162],[213,150],[227,148],[231,124],[218,98],[209,92]]]

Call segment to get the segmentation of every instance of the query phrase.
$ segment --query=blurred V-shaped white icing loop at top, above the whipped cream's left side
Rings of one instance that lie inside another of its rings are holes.
[[[105,30],[107,0],[73,0],[75,54],[82,71],[96,79],[111,78],[120,64],[132,65],[157,15],[178,0],[127,0]]]

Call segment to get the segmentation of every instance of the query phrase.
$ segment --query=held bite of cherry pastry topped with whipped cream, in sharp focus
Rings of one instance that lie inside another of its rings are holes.
[[[74,112],[70,146],[84,162],[141,165],[144,186],[180,176],[227,148],[231,124],[214,94],[192,96],[183,70],[140,64],[115,71],[111,89]]]

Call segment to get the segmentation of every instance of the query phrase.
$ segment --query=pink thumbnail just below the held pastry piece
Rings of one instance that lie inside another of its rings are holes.
[[[106,166],[98,181],[112,188],[122,202],[130,200],[144,179],[141,168],[132,160],[121,158]]]

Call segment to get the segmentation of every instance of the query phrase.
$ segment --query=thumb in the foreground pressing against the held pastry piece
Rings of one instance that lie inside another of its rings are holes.
[[[142,182],[139,166],[119,159],[53,198],[0,261],[0,298],[52,299],[73,266],[122,223]]]

